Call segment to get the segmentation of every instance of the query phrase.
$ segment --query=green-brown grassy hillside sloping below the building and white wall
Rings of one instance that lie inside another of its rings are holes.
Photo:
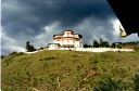
[[[2,91],[139,91],[139,51],[40,51],[1,60]]]

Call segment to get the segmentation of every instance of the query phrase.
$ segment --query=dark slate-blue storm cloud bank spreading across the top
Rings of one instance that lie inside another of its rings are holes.
[[[92,15],[100,20],[113,16],[105,0],[3,0],[2,2],[2,25],[12,26],[9,27],[9,32],[24,29],[24,34],[28,35],[29,27],[30,31],[36,32],[30,35],[37,35],[41,27],[54,21],[59,21],[62,27],[72,27]]]

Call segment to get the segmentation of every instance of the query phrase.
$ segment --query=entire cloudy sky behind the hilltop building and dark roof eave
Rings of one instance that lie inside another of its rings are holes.
[[[91,44],[139,40],[137,34],[119,38],[119,22],[106,0],[1,0],[1,54],[25,51],[26,41],[47,47],[52,37],[73,29]]]

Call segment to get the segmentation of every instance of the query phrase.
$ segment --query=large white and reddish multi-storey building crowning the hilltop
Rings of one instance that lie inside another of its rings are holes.
[[[62,48],[81,48],[81,35],[74,34],[73,30],[64,30],[63,34],[53,36],[53,42],[59,43]]]

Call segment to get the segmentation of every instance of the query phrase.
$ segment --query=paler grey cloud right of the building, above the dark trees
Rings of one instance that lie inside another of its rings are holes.
[[[75,27],[75,30],[84,35],[85,43],[90,44],[92,44],[93,40],[99,40],[100,38],[103,38],[109,42],[113,42],[116,38],[113,34],[113,24],[109,20],[100,21],[94,17],[89,17],[85,20],[84,23]]]

